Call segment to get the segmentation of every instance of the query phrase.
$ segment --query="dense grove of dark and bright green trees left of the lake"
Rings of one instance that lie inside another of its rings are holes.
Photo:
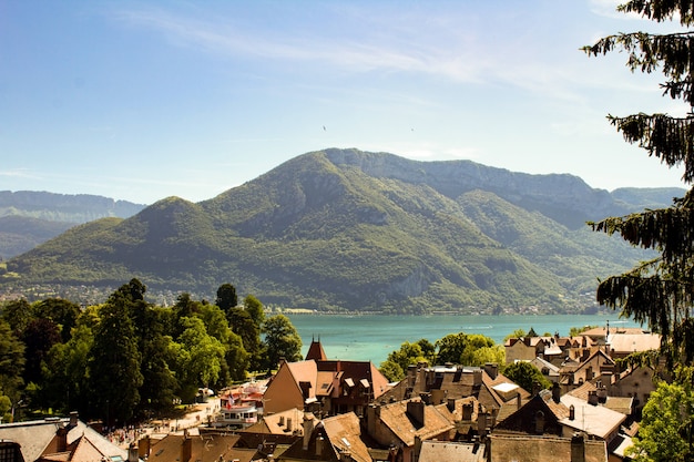
[[[191,403],[202,387],[220,390],[245,380],[265,353],[300,359],[302,340],[289,319],[266,322],[252,295],[244,308],[225,312],[187,292],[172,307],[146,301],[145,292],[131,279],[104,304],[83,309],[51,298],[1,304],[2,421],[21,402],[23,415],[76,410],[108,425],[125,424]]]

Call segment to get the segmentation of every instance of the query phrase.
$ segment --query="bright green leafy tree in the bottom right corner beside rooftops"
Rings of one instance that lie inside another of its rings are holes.
[[[629,454],[635,462],[691,461],[694,393],[681,384],[660,382],[643,408],[639,434]]]

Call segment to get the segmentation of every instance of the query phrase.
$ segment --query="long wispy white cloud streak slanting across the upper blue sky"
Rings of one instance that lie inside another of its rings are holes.
[[[233,21],[191,19],[162,9],[120,11],[114,18],[159,31],[178,45],[211,53],[316,62],[351,72],[420,72],[479,81],[490,65],[477,45],[461,41],[460,34],[447,34],[448,42],[442,47],[426,39],[433,31],[422,31],[421,24],[412,24],[409,37],[388,43],[367,31],[355,33],[359,39],[316,35],[309,31],[276,35],[275,31],[244,30]],[[441,33],[445,31],[439,30],[438,34]]]

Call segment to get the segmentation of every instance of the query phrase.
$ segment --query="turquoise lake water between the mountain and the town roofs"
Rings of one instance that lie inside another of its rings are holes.
[[[312,339],[320,340],[328,359],[371,361],[379,366],[388,353],[405,341],[431,342],[449,333],[482,333],[502,343],[517,329],[538,335],[559,332],[568,336],[572,327],[640,327],[632,320],[610,315],[548,316],[382,316],[382,315],[287,315],[304,342],[306,356]]]

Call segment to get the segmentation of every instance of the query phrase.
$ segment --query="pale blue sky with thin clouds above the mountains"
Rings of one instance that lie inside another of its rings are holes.
[[[0,0],[0,191],[212,198],[328,147],[686,187],[608,114],[686,107],[580,48],[612,0]]]

